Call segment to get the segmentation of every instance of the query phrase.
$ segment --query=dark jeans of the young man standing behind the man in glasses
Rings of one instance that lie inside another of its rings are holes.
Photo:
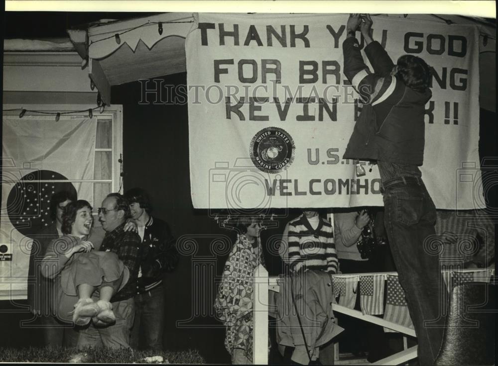
[[[162,351],[164,331],[164,287],[162,284],[135,296],[135,323],[131,330],[131,348]]]

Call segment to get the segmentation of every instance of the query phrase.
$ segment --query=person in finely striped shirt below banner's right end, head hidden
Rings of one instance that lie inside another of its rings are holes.
[[[495,263],[495,224],[486,210],[436,210],[441,265],[488,268]]]

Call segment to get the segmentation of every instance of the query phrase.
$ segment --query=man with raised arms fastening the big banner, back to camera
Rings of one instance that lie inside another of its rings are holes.
[[[432,365],[442,342],[446,299],[438,258],[424,250],[435,234],[434,203],[422,181],[425,104],[431,98],[430,69],[420,57],[404,55],[394,65],[372,38],[370,15],[351,14],[343,42],[344,74],[364,103],[344,153],[345,159],[377,162],[385,228],[405,291],[418,341],[418,362]],[[365,64],[356,31],[365,39]]]

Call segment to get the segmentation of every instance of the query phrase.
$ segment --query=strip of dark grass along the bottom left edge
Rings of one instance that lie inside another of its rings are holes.
[[[132,351],[111,350],[106,348],[86,348],[78,351],[75,348],[38,348],[23,349],[0,348],[0,362],[41,362],[41,363],[67,363],[76,354],[86,354],[85,363],[98,364],[132,364],[145,363],[145,357],[162,356],[163,363],[169,364],[205,364],[204,358],[197,350],[188,351]]]

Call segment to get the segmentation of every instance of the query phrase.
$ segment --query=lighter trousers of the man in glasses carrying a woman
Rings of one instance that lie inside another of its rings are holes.
[[[78,348],[83,347],[107,347],[111,349],[129,348],[129,335],[135,308],[133,299],[113,302],[113,312],[116,315],[116,323],[107,327],[95,327],[90,323],[86,328],[80,330]]]

